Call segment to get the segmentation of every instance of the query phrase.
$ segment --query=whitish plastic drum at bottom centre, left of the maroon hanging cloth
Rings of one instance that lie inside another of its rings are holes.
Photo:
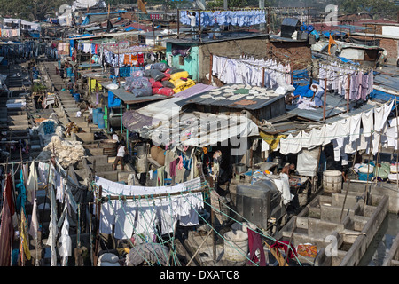
[[[224,257],[232,262],[245,262],[249,252],[248,233],[241,230],[224,233]]]

